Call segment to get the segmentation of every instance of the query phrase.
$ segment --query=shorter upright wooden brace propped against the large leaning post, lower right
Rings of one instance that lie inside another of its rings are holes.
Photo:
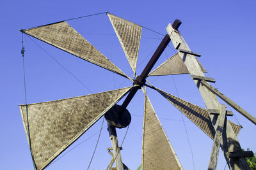
[[[220,152],[220,143],[222,140],[223,125],[224,125],[224,120],[226,116],[226,109],[227,109],[226,106],[224,104],[221,104],[220,115],[216,123],[218,127],[216,129],[216,133],[214,136],[214,142],[212,145],[212,152],[211,152],[210,162],[208,165],[208,170],[215,170],[217,167],[218,156]]]

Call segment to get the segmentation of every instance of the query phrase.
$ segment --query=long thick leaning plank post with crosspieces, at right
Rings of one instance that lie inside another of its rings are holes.
[[[166,31],[168,32],[172,40],[173,46],[178,51],[186,50],[188,52],[191,52],[186,41],[180,35],[180,32],[173,29],[172,24],[168,25],[168,27],[166,28]],[[200,62],[196,59],[196,57],[193,54],[179,52],[179,56],[183,60],[191,76],[192,75],[204,76],[204,72],[200,67]],[[194,80],[194,81],[202,98],[204,99],[204,103],[207,110],[219,110],[220,103],[218,102],[217,97],[209,89],[207,89],[204,85],[202,85],[200,83],[200,80]],[[218,115],[210,115],[210,117],[211,117],[212,124],[214,125],[214,129],[216,131],[217,129],[216,120],[218,118]],[[241,146],[239,145],[239,141],[237,140],[236,135],[234,134],[234,131],[232,130],[232,127],[227,121],[227,119],[225,119],[224,129],[225,129],[224,130],[225,132],[223,132],[223,134],[225,134],[224,137],[226,139],[223,139],[223,143],[221,143],[221,148],[224,152],[229,168],[250,170],[250,167],[248,166],[246,160],[243,157],[237,158],[237,159],[230,159],[226,156],[227,152],[241,151]],[[227,143],[224,143],[224,140],[227,141]]]

